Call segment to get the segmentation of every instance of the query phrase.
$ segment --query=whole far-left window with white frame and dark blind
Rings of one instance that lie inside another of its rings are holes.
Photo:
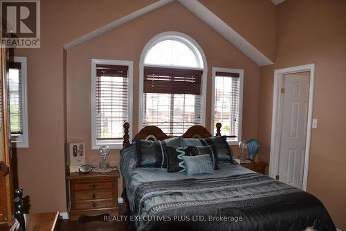
[[[28,148],[28,112],[26,101],[26,57],[14,57],[8,67],[10,130],[12,146]]]

